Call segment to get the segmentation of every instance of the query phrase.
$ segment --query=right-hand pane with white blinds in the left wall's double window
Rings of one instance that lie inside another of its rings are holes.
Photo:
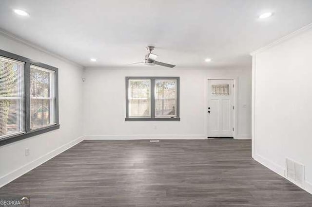
[[[55,71],[30,66],[30,128],[55,124]]]

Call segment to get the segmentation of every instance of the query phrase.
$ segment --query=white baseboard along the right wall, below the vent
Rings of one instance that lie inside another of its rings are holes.
[[[300,187],[301,189],[306,190],[307,192],[312,194],[312,184],[309,183],[308,181],[305,181],[303,183],[303,185],[300,185],[300,184],[294,182],[293,180],[288,179],[286,177],[285,169],[283,167],[277,165],[276,163],[273,163],[272,161],[270,161],[269,159],[267,159],[267,158],[265,158],[265,157],[263,157],[261,155],[255,155],[254,156],[254,160],[259,162],[260,164],[264,165],[265,167],[269,168],[274,173],[277,173],[280,176],[284,177],[285,179],[291,181],[293,184],[295,184],[296,186]]]

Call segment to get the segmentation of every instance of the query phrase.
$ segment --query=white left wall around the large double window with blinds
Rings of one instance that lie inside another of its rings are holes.
[[[0,49],[59,68],[60,123],[57,130],[0,146],[1,187],[82,140],[82,68],[1,33]]]

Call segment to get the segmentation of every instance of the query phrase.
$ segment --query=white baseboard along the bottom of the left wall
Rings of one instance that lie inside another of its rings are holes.
[[[13,180],[15,180],[16,178],[20,177],[21,175],[28,173],[29,171],[33,170],[34,168],[38,167],[39,165],[41,165],[42,163],[48,161],[49,159],[55,157],[56,155],[59,155],[60,153],[64,152],[65,150],[73,147],[74,145],[78,144],[79,142],[83,141],[83,136],[67,143],[64,144],[63,146],[60,146],[59,148],[45,154],[42,155],[41,157],[39,157],[38,159],[35,159],[34,161],[27,163],[25,165],[23,165],[22,167],[20,167],[17,170],[12,171],[11,173],[7,173],[5,175],[3,175],[2,177],[0,177],[0,188],[6,184],[8,184],[9,182],[12,182]]]

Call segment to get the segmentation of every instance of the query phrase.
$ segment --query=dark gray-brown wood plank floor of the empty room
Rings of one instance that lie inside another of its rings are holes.
[[[0,189],[32,207],[312,207],[251,158],[251,141],[85,140]]]

